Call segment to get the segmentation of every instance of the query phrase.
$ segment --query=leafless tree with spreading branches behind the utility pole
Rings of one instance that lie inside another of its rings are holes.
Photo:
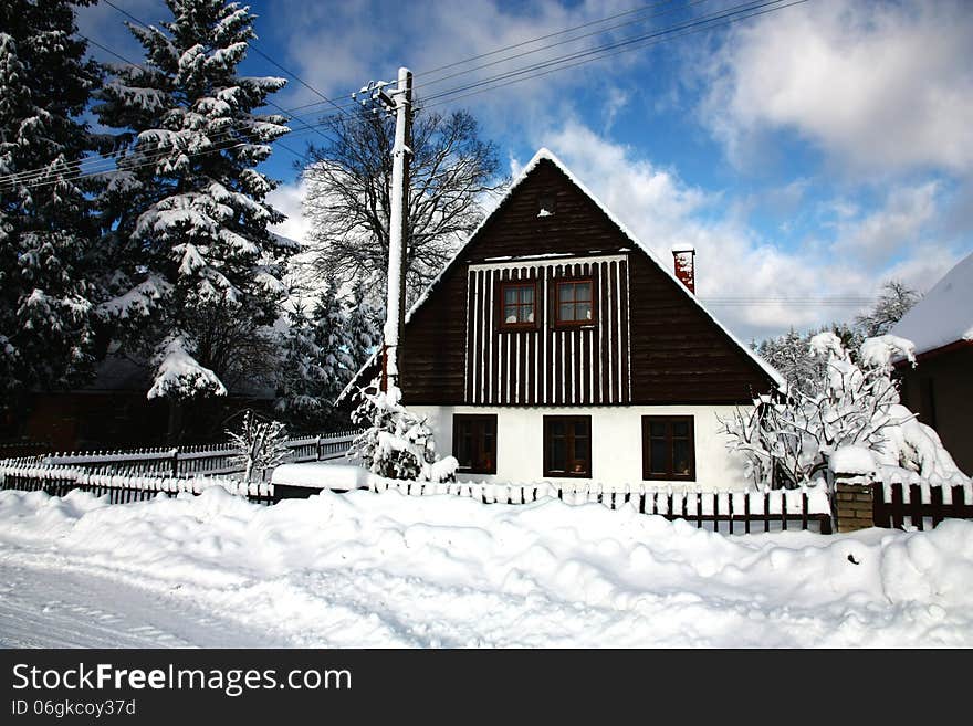
[[[339,283],[362,280],[384,291],[395,120],[363,111],[326,125],[334,140],[312,146],[303,171],[304,213],[317,252],[310,264]],[[500,175],[496,146],[479,138],[467,111],[443,116],[418,109],[411,149],[406,265],[415,298],[482,221],[485,199],[509,179]]]

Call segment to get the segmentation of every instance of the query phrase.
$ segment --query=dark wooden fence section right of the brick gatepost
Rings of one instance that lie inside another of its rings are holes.
[[[945,518],[973,519],[973,484],[929,486],[928,484],[875,484],[872,522],[876,527],[918,529],[938,525]]]

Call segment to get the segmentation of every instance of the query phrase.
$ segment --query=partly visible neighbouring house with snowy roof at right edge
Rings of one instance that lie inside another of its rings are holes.
[[[950,270],[891,329],[916,344],[899,364],[901,396],[932,427],[956,465],[973,474],[973,253]]]

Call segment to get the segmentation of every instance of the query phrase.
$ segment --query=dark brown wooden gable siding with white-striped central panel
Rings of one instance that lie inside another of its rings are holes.
[[[556,213],[538,218],[544,193],[556,196]],[[555,274],[564,274],[550,257],[510,259],[550,253],[625,260],[578,263],[596,267],[597,325],[552,330],[545,305],[538,330],[500,335],[501,280],[540,275],[538,297],[550,301]],[[719,264],[720,251],[709,254]],[[400,369],[407,403],[439,406],[746,403],[773,387],[678,282],[547,162],[501,204],[411,315]],[[363,371],[359,383],[376,370]]]

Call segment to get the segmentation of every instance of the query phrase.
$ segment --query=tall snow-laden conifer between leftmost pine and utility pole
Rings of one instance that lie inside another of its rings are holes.
[[[125,150],[101,198],[116,294],[103,309],[129,349],[155,351],[159,376],[176,369],[166,356],[176,349],[190,378],[205,379],[201,369],[220,383],[157,379],[150,397],[175,406],[187,390],[226,390],[275,319],[292,250],[268,230],[283,219],[265,200],[276,182],[254,169],[289,130],[254,109],[285,81],[237,75],[254,15],[223,0],[166,4],[172,20],[161,29],[128,25],[145,63],[115,69],[95,111],[123,129]],[[170,438],[175,427],[177,414]]]

